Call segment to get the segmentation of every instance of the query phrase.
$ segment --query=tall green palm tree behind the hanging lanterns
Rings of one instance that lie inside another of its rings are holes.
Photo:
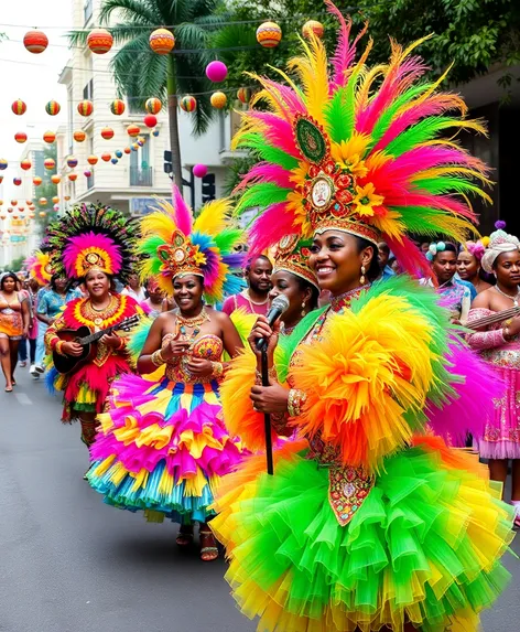
[[[143,105],[148,97],[167,103],[173,174],[181,186],[178,95],[196,95],[193,130],[204,133],[214,114],[208,95],[201,94],[212,89],[204,73],[210,61],[206,46],[224,20],[224,0],[104,0],[100,24],[109,25],[113,13],[118,23],[109,30],[115,43],[122,44],[111,61],[116,85],[130,103]],[[153,53],[149,45],[151,32],[161,26],[175,35],[175,49],[167,55]],[[85,31],[68,34],[73,45],[84,44],[87,35]]]

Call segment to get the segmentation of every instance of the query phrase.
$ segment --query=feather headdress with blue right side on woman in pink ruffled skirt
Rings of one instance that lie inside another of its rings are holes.
[[[143,279],[155,277],[160,287],[173,294],[173,280],[183,275],[204,279],[208,302],[218,302],[240,291],[243,255],[236,246],[245,242],[245,233],[230,219],[230,202],[216,200],[206,204],[197,218],[176,186],[173,205],[158,201],[158,210],[141,219],[141,237],[137,253],[145,257],[141,264]]]

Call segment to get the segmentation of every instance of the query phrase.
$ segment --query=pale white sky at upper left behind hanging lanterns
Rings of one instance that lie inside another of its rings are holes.
[[[14,140],[14,135],[24,131],[29,141],[42,140],[44,131],[55,131],[66,122],[66,88],[58,84],[58,76],[71,56],[64,34],[72,24],[73,0],[0,0],[0,33],[9,38],[0,42],[0,158],[10,163],[1,172],[4,200],[17,197],[19,189],[12,180],[19,174],[24,146]],[[33,29],[44,31],[50,41],[40,55],[23,45],[24,34]],[[23,116],[11,111],[11,104],[18,98],[28,106]],[[62,106],[54,117],[45,111],[51,99]]]

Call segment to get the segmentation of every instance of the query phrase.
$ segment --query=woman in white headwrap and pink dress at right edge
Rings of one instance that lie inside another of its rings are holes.
[[[483,268],[497,277],[497,285],[478,294],[472,306],[468,326],[477,321],[510,310],[520,303],[520,242],[503,229],[490,235],[481,258]],[[492,320],[492,318],[490,319]],[[474,436],[480,457],[489,459],[489,473],[494,481],[506,482],[509,459],[512,460],[512,504],[516,524],[520,526],[520,317],[507,317],[478,328],[467,336],[469,345],[505,381],[506,393],[494,400],[495,409],[488,419],[481,418],[483,428]]]

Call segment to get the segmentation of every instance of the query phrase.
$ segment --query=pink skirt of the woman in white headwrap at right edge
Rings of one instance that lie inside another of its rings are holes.
[[[506,384],[506,392],[494,399],[495,411],[475,448],[484,459],[520,459],[520,369],[494,366]]]

